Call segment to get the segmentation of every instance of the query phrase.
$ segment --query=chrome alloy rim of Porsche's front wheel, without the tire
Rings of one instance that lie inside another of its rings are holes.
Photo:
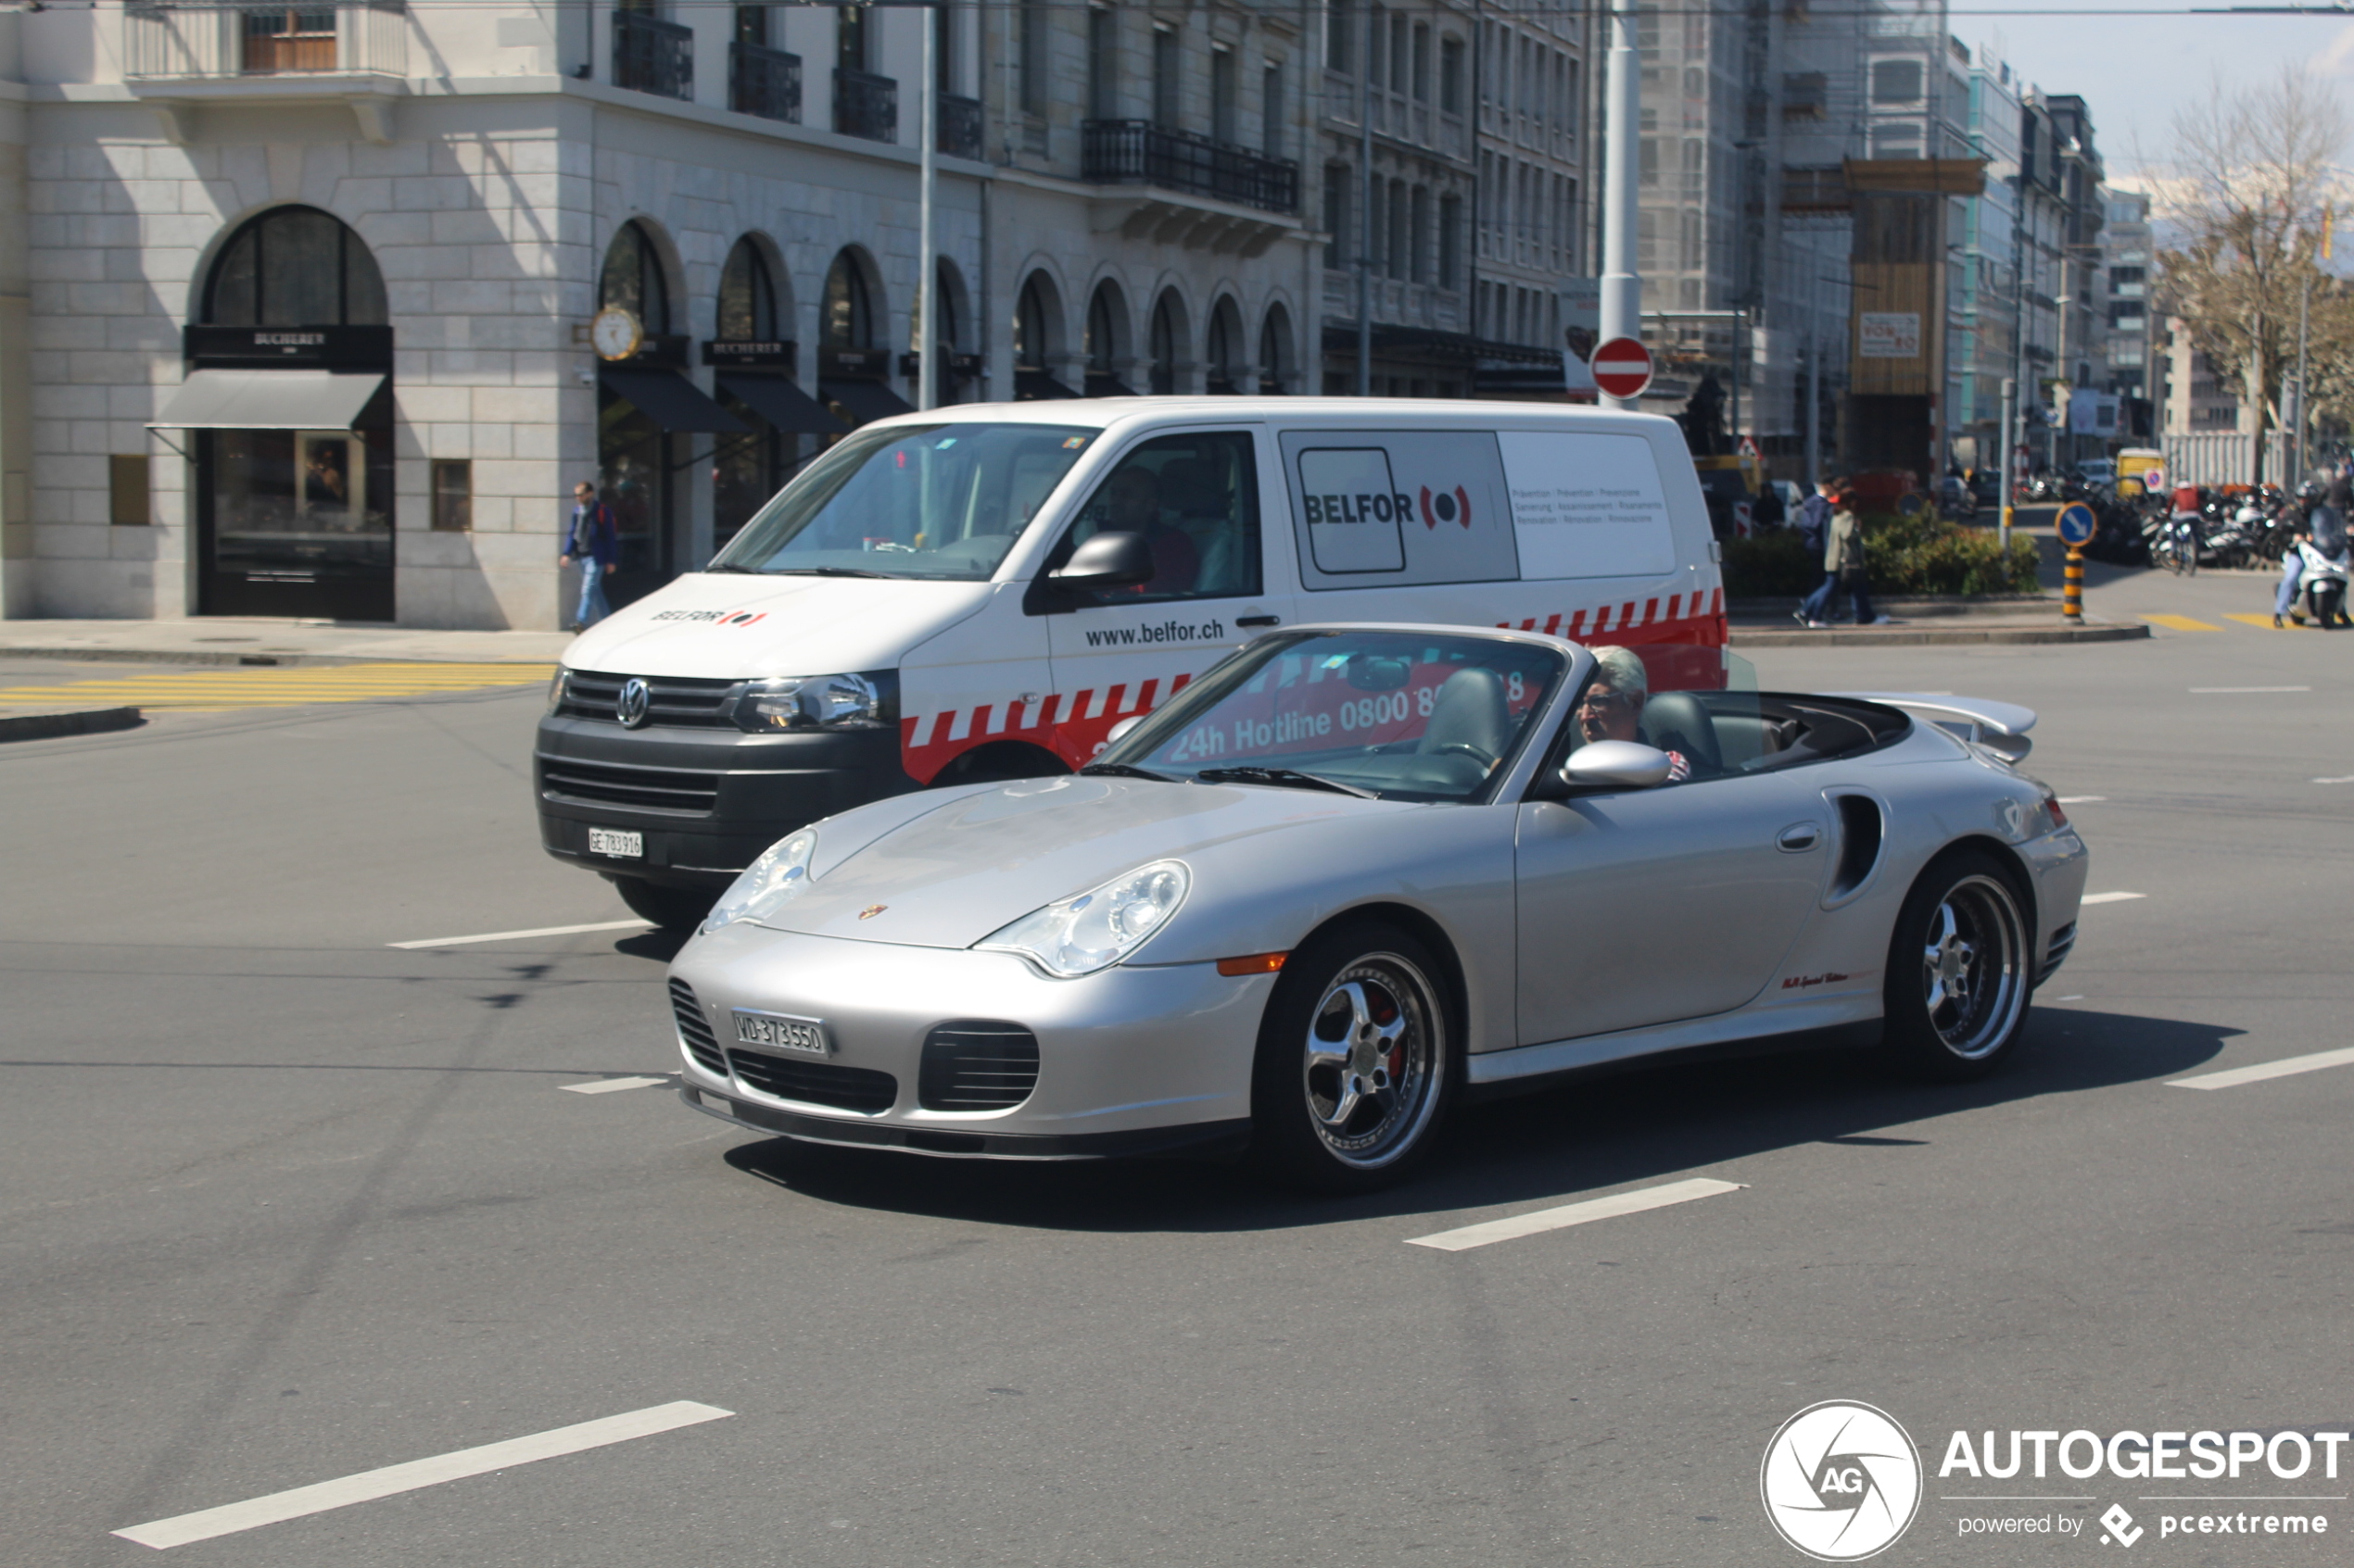
[[[1415,964],[1368,952],[1332,976],[1309,1013],[1302,1088],[1335,1159],[1370,1171],[1410,1150],[1443,1074],[1445,1013]]]

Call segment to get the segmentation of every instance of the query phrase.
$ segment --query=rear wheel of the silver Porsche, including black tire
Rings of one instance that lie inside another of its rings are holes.
[[[1886,1044],[1914,1077],[1977,1079],[2017,1048],[2034,954],[2024,900],[1994,856],[1940,858],[1888,943]]]

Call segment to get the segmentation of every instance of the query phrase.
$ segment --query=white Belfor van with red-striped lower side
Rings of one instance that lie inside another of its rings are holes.
[[[1523,402],[1121,397],[859,428],[704,571],[565,649],[551,856],[692,926],[786,832],[1083,766],[1264,628],[1516,625],[1723,684],[1678,428]]]

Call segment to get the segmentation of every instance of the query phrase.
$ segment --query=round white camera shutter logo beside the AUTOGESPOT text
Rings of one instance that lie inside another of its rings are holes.
[[[1766,1443],[1758,1493],[1791,1547],[1855,1563],[1893,1547],[1921,1512],[1921,1453],[1886,1410],[1827,1399]]]

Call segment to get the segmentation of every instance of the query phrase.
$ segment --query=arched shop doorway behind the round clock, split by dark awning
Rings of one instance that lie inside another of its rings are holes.
[[[671,284],[654,235],[636,219],[621,223],[605,247],[596,303],[598,310],[629,310],[640,341],[659,357],[659,341],[671,334]],[[647,348],[638,350],[638,360],[654,362]],[[621,536],[619,569],[605,578],[605,597],[614,607],[661,588],[678,571],[671,559],[678,552],[678,440],[652,411],[617,390],[610,376],[598,383],[598,494],[612,508]]]

